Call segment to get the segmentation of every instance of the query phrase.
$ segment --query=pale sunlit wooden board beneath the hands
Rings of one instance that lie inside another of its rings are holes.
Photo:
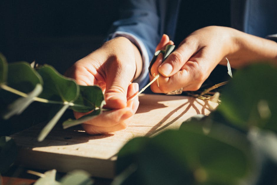
[[[154,136],[166,129],[178,129],[196,114],[209,114],[217,106],[187,96],[141,94],[139,109],[125,130],[103,135],[88,135],[82,127],[66,130],[54,127],[42,142],[37,135],[43,125],[36,125],[12,135],[19,146],[18,161],[29,168],[57,169],[68,172],[84,169],[95,177],[113,178],[117,153],[130,139]]]

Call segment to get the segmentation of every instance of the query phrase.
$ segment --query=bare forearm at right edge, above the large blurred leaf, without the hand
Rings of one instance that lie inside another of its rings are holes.
[[[233,68],[266,61],[277,65],[277,43],[232,29],[231,50],[226,55]],[[226,65],[226,60],[220,64]]]

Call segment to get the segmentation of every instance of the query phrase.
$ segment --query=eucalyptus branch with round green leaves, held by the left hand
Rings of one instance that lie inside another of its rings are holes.
[[[40,132],[39,141],[44,140],[66,109],[91,112],[77,120],[66,120],[63,123],[64,128],[92,119],[102,112],[105,104],[103,92],[98,86],[80,86],[72,78],[62,76],[49,65],[34,69],[27,62],[8,64],[1,53],[0,90],[15,95],[2,97],[8,104],[7,110],[2,113],[3,119],[21,114],[34,101],[60,105],[55,116]]]

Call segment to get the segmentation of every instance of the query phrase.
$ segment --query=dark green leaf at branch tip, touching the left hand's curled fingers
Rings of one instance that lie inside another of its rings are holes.
[[[104,102],[103,92],[98,86],[80,86],[78,99],[71,108],[77,112],[89,112]]]

